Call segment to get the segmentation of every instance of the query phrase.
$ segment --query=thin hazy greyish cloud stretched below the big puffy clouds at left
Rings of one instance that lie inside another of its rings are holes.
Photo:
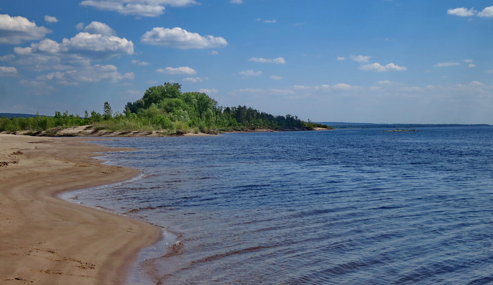
[[[56,80],[66,82],[100,82],[109,81],[112,83],[118,80],[134,80],[135,74],[127,72],[121,74],[118,68],[113,65],[95,65],[84,67],[81,70],[55,71],[45,75],[37,76],[36,80]]]

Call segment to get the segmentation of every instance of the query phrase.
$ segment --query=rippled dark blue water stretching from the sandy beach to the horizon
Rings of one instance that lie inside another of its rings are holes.
[[[491,284],[493,128],[118,138],[77,202],[161,225],[132,284]],[[163,252],[164,251],[164,252]]]

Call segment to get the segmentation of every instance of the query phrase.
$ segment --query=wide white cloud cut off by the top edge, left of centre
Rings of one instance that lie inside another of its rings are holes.
[[[179,7],[190,4],[199,3],[195,0],[85,0],[80,2],[82,6],[143,17],[156,17],[163,14],[164,5]]]

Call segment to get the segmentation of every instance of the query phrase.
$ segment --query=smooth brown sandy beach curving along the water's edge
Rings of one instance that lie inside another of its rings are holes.
[[[131,149],[0,135],[0,165],[18,161],[0,167],[0,284],[121,284],[137,253],[161,238],[150,224],[57,198],[139,174],[91,158],[112,150]]]

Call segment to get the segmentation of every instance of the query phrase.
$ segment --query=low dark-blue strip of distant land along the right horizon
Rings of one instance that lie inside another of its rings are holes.
[[[318,122],[317,122],[318,123]],[[343,123],[343,122],[320,122],[334,129],[402,129],[402,128],[440,128],[440,127],[491,127],[488,124],[373,124],[373,123]]]

